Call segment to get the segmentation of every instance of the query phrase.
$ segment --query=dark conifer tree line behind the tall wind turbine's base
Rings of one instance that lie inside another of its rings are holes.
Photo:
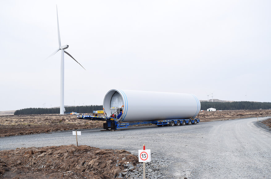
[[[94,110],[102,110],[102,105],[89,105],[89,106],[69,106],[65,107],[65,113],[92,113]],[[20,114],[59,114],[60,108],[25,108],[15,110],[14,115]]]

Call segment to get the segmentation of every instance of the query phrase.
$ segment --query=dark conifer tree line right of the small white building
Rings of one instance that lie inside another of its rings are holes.
[[[271,109],[271,102],[200,102],[201,110],[215,108],[216,110],[255,110],[255,109]]]

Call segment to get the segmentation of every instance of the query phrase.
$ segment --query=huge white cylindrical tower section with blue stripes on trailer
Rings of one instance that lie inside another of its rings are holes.
[[[200,111],[200,101],[193,94],[152,91],[110,90],[104,97],[106,116],[118,121],[190,119]]]

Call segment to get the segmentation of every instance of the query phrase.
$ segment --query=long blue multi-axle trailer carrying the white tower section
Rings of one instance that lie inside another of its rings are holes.
[[[137,121],[137,122],[117,122],[116,118],[112,117],[103,117],[103,116],[91,116],[91,115],[78,115],[78,119],[87,119],[87,120],[95,120],[95,121],[106,121],[103,123],[103,128],[106,130],[118,130],[121,128],[126,128],[133,125],[144,125],[144,124],[155,124],[159,127],[161,126],[184,126],[190,124],[199,123],[199,119],[163,119],[163,120],[155,120],[155,121]]]

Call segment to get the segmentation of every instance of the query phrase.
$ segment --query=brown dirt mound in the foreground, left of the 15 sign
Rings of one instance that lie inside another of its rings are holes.
[[[86,145],[0,151],[2,178],[115,178],[138,158],[125,150]]]

